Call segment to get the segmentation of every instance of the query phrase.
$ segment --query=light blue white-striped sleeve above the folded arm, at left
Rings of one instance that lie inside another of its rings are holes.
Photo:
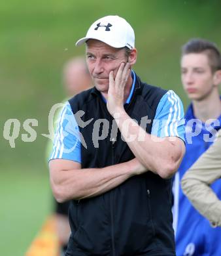
[[[65,159],[81,163],[80,131],[69,102],[61,109],[54,135],[52,159]]]

